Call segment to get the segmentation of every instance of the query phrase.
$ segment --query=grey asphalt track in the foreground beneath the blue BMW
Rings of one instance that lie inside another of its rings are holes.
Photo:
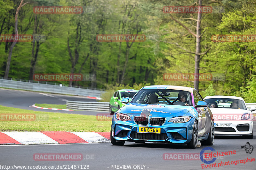
[[[254,131],[255,131],[254,125]],[[242,137],[218,137],[215,139],[212,148],[218,152],[236,151],[236,154],[219,157],[212,164],[228,161],[236,161],[243,159],[256,158],[256,151],[251,154],[246,153],[241,146],[249,142],[252,146],[256,147],[255,135],[254,139],[243,139]],[[199,143],[198,143],[199,144]],[[126,142],[124,146],[114,146],[110,143],[98,144],[46,144],[46,145],[2,145],[0,146],[0,165],[8,166],[63,166],[63,169],[71,168],[73,165],[89,165],[92,170],[108,170],[108,169],[246,169],[255,170],[255,162],[238,163],[237,165],[225,165],[213,168],[202,168],[203,163],[199,160],[164,160],[164,153],[200,153],[206,146],[201,146],[196,149],[188,149],[185,146],[160,144],[160,143],[146,143],[135,144],[133,142]],[[208,150],[209,151],[209,150]],[[205,151],[206,152],[206,151]],[[80,161],[38,161],[34,160],[33,155],[38,153],[81,153],[83,160]],[[216,153],[216,152],[215,152]],[[174,157],[173,157],[174,158]],[[182,158],[182,157],[181,157]],[[195,157],[196,158],[196,157]],[[244,161],[245,162],[245,161]],[[228,164],[228,163],[227,163]],[[112,166],[111,166],[112,165]],[[115,166],[114,166],[115,165]],[[117,166],[118,165],[118,166]],[[120,165],[120,166],[119,166]],[[122,165],[131,165],[131,168]],[[138,165],[138,166],[137,166]],[[139,166],[141,165],[141,167]],[[116,167],[116,168],[114,168]],[[126,167],[126,168],[124,168]],[[0,167],[1,168],[1,167]],[[76,167],[77,168],[77,167]],[[2,169],[2,168],[1,168]],[[22,169],[22,168],[21,168]],[[36,168],[34,168],[36,169]],[[74,167],[73,167],[74,169]]]

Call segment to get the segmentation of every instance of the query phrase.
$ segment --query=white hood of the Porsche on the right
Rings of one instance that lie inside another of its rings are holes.
[[[240,120],[244,113],[250,113],[250,110],[231,109],[231,108],[210,108],[214,120]]]

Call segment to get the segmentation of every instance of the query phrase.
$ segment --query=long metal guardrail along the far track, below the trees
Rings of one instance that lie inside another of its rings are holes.
[[[30,82],[6,80],[6,79],[0,79],[0,87],[39,91],[39,92],[59,93],[59,94],[71,94],[71,95],[79,95],[79,96],[91,96],[91,97],[100,97],[100,95],[104,93],[104,91],[100,91],[100,90],[90,90],[90,89],[67,87],[67,86],[60,87],[59,85],[30,83]]]

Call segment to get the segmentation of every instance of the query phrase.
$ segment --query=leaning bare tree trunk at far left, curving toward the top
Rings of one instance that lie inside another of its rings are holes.
[[[15,13],[15,25],[14,25],[14,30],[15,30],[15,35],[18,35],[18,14],[19,14],[19,10],[22,6],[24,6],[25,4],[23,4],[23,0],[21,0],[19,7],[16,10]],[[10,71],[10,65],[11,65],[11,59],[12,59],[12,49],[14,48],[15,44],[17,43],[17,41],[12,42],[11,47],[9,48],[9,54],[8,54],[8,58],[7,58],[7,63],[6,63],[6,69],[5,69],[5,73],[4,73],[4,79],[8,79],[8,75],[9,75],[9,71]]]

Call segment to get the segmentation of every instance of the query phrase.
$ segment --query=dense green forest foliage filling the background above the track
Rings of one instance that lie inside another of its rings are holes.
[[[15,34],[21,0],[0,0],[0,34]],[[95,81],[56,82],[112,89],[147,85],[184,85],[164,81],[164,73],[194,73],[197,14],[170,14],[164,6],[197,5],[197,0],[24,0],[19,34],[44,34],[42,42],[17,42],[8,78],[32,79],[33,73],[91,73]],[[199,72],[222,75],[200,81],[206,95],[237,95],[256,101],[255,42],[212,42],[213,34],[256,34],[255,0],[202,0],[224,12],[202,14]],[[35,14],[35,6],[83,6],[82,14]],[[179,21],[183,26],[181,26]],[[97,34],[145,34],[144,42],[98,42]],[[12,42],[0,42],[0,76],[4,77]],[[193,53],[191,53],[193,52]],[[33,63],[35,66],[33,66]],[[34,70],[33,70],[34,67]],[[33,71],[31,71],[31,68]],[[135,85],[136,84],[136,85]],[[134,86],[135,85],[135,86]],[[119,87],[116,87],[119,86]],[[115,87],[115,88],[113,88]]]

